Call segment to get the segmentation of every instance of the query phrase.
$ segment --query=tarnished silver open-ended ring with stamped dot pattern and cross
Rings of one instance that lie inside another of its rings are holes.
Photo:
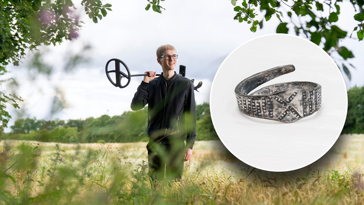
[[[240,111],[251,117],[286,123],[318,111],[321,107],[321,85],[314,82],[283,82],[249,94],[265,82],[294,70],[293,65],[278,66],[241,81],[235,88]]]

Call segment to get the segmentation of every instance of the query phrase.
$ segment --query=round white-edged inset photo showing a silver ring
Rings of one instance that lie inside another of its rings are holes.
[[[246,164],[290,171],[323,156],[347,114],[347,90],[333,59],[304,38],[264,35],[230,53],[210,93],[215,130]]]

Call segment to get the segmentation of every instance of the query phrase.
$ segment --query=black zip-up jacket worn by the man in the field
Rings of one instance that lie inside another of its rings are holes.
[[[191,148],[196,138],[196,104],[193,83],[174,72],[166,81],[163,73],[149,83],[142,81],[131,101],[136,111],[148,104],[148,136],[154,141],[184,139]]]

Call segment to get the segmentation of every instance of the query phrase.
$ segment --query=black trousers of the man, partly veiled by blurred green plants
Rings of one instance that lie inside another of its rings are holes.
[[[185,142],[149,141],[147,144],[149,176],[154,181],[162,181],[166,174],[167,181],[182,179]]]

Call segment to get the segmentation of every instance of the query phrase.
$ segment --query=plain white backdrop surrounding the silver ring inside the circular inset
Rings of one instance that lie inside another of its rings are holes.
[[[319,111],[293,123],[242,114],[234,89],[245,78],[281,65],[296,70],[259,86],[311,81],[322,86]],[[210,112],[226,148],[246,164],[266,171],[290,171],[321,158],[336,142],[347,114],[347,90],[333,59],[316,44],[289,34],[251,39],[233,50],[215,74]]]

